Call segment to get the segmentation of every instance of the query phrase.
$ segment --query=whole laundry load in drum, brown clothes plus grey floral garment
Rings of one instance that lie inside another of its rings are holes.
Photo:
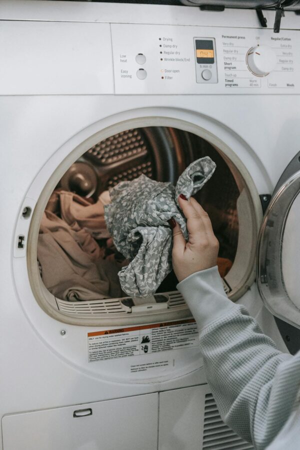
[[[214,169],[205,156],[183,171],[176,187],[140,175],[102,192],[95,203],[55,190],[38,235],[45,286],[68,301],[152,295],[172,269],[168,220],[173,217],[188,237],[178,195],[195,194]],[[227,260],[219,262],[229,269]]]

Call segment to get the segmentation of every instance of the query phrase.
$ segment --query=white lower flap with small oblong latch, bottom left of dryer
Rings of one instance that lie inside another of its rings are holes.
[[[157,393],[11,414],[2,418],[3,448],[156,450],[157,420]]]

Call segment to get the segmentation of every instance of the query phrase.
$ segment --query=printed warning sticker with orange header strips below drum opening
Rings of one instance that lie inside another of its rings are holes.
[[[194,319],[108,329],[87,334],[88,362],[194,347],[199,344]]]

